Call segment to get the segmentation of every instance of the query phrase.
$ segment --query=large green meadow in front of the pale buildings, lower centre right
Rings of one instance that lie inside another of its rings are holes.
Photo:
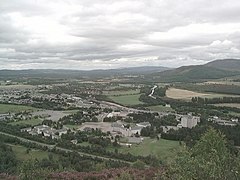
[[[175,156],[179,148],[178,141],[145,138],[143,143],[139,145],[132,145],[130,148],[121,147],[119,152],[141,156],[154,155],[162,161],[169,162]]]

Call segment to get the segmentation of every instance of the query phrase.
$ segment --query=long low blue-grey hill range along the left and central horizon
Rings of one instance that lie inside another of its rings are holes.
[[[130,67],[108,70],[65,70],[65,69],[29,69],[29,70],[0,70],[0,78],[19,77],[47,77],[47,78],[81,78],[81,77],[106,77],[124,75],[146,75],[154,72],[162,72],[170,68],[161,66]]]

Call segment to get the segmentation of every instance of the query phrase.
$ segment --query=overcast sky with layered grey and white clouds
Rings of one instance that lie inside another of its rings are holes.
[[[0,69],[178,67],[239,55],[239,0],[0,0]]]

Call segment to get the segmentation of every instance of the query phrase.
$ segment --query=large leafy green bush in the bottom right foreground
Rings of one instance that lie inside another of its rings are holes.
[[[184,149],[168,173],[170,179],[239,179],[239,156],[231,154],[224,135],[209,129],[191,149]]]

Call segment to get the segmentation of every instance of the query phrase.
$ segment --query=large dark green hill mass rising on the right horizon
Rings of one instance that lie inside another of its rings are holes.
[[[240,60],[216,60],[205,65],[182,66],[172,70],[153,73],[151,76],[154,81],[196,82],[239,74]],[[147,77],[149,78],[150,76]]]

